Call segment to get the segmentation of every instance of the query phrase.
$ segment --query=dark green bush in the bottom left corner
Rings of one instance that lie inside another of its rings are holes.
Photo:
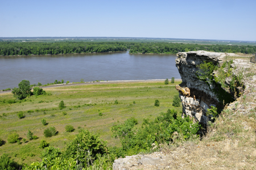
[[[3,154],[0,157],[0,169],[3,170],[16,170],[20,169],[20,165],[16,163],[11,157],[9,157],[7,154]]]

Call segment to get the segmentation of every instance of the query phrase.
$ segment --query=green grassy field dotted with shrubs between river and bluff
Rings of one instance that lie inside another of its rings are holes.
[[[0,94],[0,138],[5,144],[0,147],[0,155],[9,154],[19,163],[32,163],[40,159],[40,140],[44,139],[50,146],[63,150],[65,145],[74,138],[79,129],[97,133],[108,141],[108,146],[121,146],[118,139],[112,138],[111,127],[123,123],[127,118],[138,119],[141,126],[144,118],[154,119],[160,112],[174,108],[172,99],[178,94],[175,84],[164,85],[164,82],[126,82],[118,84],[77,85],[58,88],[48,88],[43,96],[31,96],[22,102],[9,104],[14,99],[11,93]],[[160,106],[154,106],[155,99]],[[63,100],[65,109],[58,105]],[[115,101],[118,103],[115,103]],[[5,101],[5,102],[4,102]],[[135,104],[134,104],[135,101]],[[181,107],[174,108],[179,113]],[[25,117],[19,119],[18,111],[23,111]],[[67,113],[64,115],[63,113]],[[103,115],[100,116],[99,113]],[[41,120],[46,119],[48,125],[43,126]],[[65,126],[75,127],[74,132],[65,132]],[[43,131],[54,126],[58,131],[56,136],[46,138]],[[20,139],[27,139],[31,130],[39,139],[27,140],[22,144],[8,143],[9,134],[16,132]],[[32,155],[34,154],[34,155]]]

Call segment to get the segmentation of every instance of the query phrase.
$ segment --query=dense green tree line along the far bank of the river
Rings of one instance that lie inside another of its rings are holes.
[[[183,43],[130,43],[130,42],[0,42],[0,55],[56,55],[67,53],[92,53],[126,51],[130,53],[178,53],[187,51],[212,51],[230,53],[255,53],[252,45],[201,45]]]

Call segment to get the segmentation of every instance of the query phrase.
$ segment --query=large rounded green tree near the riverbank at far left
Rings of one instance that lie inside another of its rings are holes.
[[[11,93],[18,99],[24,99],[31,94],[30,81],[22,80],[19,83],[19,88],[14,88]]]

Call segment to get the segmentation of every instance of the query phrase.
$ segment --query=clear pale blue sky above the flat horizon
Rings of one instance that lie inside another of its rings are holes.
[[[255,0],[0,0],[0,37],[256,41]]]

